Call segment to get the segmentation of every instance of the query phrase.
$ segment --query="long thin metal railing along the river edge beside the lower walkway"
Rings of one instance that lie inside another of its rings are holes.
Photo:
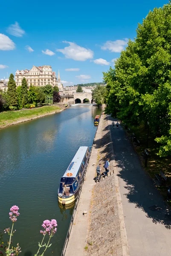
[[[100,122],[100,120],[99,120]],[[97,126],[97,130],[96,130],[96,133],[98,131],[98,127],[99,127],[99,124]],[[96,137],[96,134],[95,134],[95,137]],[[94,140],[95,140],[95,137],[94,137]],[[94,140],[93,140],[93,144],[94,144]],[[92,152],[92,148],[93,148],[93,144],[91,146],[91,150],[90,150],[90,153],[89,153],[89,158],[88,158],[88,161],[87,161],[87,165],[85,167],[85,171],[84,171],[84,174],[83,174],[83,177],[82,177],[82,180],[81,180],[81,184],[80,184],[80,189],[79,189],[79,193],[78,193],[78,197],[75,201],[75,206],[74,206],[74,210],[72,212],[72,217],[71,217],[71,221],[70,221],[70,226],[68,228],[68,232],[67,232],[67,237],[65,239],[65,242],[64,242],[64,247],[63,247],[63,250],[62,250],[62,253],[61,253],[61,256],[64,256],[65,253],[66,253],[66,250],[67,250],[67,245],[68,245],[68,242],[69,242],[69,239],[70,239],[70,233],[71,233],[71,230],[72,230],[72,225],[74,223],[74,217],[75,217],[75,214],[76,214],[76,210],[77,210],[77,207],[78,207],[78,203],[79,203],[79,200],[80,200],[80,195],[81,195],[81,191],[82,191],[82,186],[83,186],[83,183],[84,183],[84,178],[85,178],[85,175],[86,175],[86,172],[87,172],[87,167],[88,167],[88,164],[89,164],[89,161],[90,161],[90,157],[91,157],[91,152]]]

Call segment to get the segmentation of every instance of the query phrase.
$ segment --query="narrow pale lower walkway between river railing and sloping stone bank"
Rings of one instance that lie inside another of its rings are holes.
[[[101,116],[99,126],[96,132],[95,143],[101,139],[101,128],[102,128]],[[70,233],[70,239],[67,245],[65,256],[84,256],[84,247],[87,239],[87,228],[89,221],[90,202],[92,197],[92,189],[96,184],[93,180],[96,172],[97,156],[99,151],[99,145],[96,143],[96,148],[93,146],[90,162],[87,168],[84,184],[82,187],[80,200],[78,203],[77,212],[74,218],[74,224]],[[95,164],[95,165],[93,165]],[[87,211],[86,215],[83,215],[84,210]]]

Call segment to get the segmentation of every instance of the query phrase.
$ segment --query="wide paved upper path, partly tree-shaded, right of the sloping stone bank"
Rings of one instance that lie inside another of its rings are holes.
[[[171,212],[145,173],[124,128],[110,132],[116,162],[130,256],[171,255]]]

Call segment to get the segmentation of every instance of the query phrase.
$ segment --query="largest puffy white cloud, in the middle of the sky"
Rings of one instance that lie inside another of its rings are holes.
[[[93,58],[94,52],[92,50],[68,41],[63,41],[63,43],[70,44],[70,46],[64,49],[56,49],[56,51],[62,52],[65,58],[71,58],[75,61],[87,61],[87,59]]]

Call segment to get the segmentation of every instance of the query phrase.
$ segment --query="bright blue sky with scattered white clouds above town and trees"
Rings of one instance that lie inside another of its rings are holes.
[[[64,86],[101,82],[102,72],[136,36],[137,24],[165,3],[1,1],[0,79],[17,69],[51,65]]]

